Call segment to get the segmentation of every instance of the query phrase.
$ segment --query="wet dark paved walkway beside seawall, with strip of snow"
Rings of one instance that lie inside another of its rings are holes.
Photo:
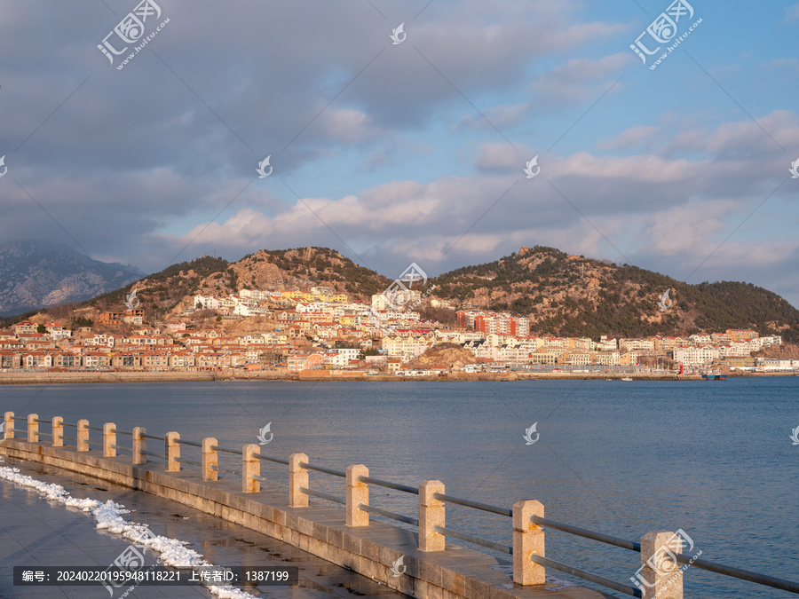
[[[298,566],[298,587],[263,587],[260,592],[248,589],[253,595],[297,599],[407,597],[280,540],[177,502],[72,472],[63,476],[62,470],[44,464],[8,457],[3,460],[0,466],[18,468],[21,474],[61,485],[75,498],[121,503],[131,510],[124,516],[127,520],[150,524],[156,534],[188,541],[188,548],[212,564]],[[128,546],[127,540],[98,531],[90,514],[64,508],[42,499],[33,489],[0,480],[0,597],[112,599],[104,587],[14,587],[13,566],[105,567]],[[125,589],[118,589],[113,599],[123,595]],[[126,596],[194,599],[212,595],[203,587],[137,587]]]

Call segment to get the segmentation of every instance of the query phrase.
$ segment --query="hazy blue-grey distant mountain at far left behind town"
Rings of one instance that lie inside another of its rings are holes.
[[[0,316],[82,302],[144,275],[93,260],[65,244],[19,241],[0,247]]]

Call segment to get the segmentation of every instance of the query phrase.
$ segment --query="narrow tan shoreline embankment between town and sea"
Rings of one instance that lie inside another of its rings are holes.
[[[228,382],[228,381],[305,381],[305,382],[352,382],[352,381],[374,381],[374,382],[469,382],[469,381],[621,381],[622,377],[629,377],[636,381],[701,381],[700,374],[607,374],[607,373],[453,373],[446,376],[375,376],[362,373],[347,373],[344,371],[326,371],[328,373],[341,374],[320,374],[320,371],[303,371],[301,373],[287,374],[285,371],[259,371],[256,373],[246,373],[244,371],[233,372],[44,372],[44,373],[0,373],[0,385],[24,385],[24,384],[87,384],[87,383],[108,383],[108,382]],[[746,373],[729,374],[728,377],[734,378],[759,378],[771,376],[799,376],[799,373],[780,372],[780,373]]]

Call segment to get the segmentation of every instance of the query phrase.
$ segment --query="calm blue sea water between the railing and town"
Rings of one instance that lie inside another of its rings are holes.
[[[304,452],[342,470],[363,463],[373,477],[413,486],[435,478],[447,493],[506,507],[536,499],[551,519],[627,539],[681,528],[703,558],[799,579],[799,445],[789,439],[799,426],[797,397],[796,377],[140,383],[4,386],[0,412],[145,426],[154,435],[177,430],[234,447],[257,443],[258,429],[272,422],[267,455]],[[541,436],[526,445],[534,422]],[[184,455],[198,460],[191,448]],[[236,467],[233,456],[226,466]],[[262,476],[288,481],[277,465],[264,465]],[[340,478],[312,473],[311,485],[344,497]],[[373,487],[371,503],[415,516],[415,496],[405,493]],[[510,544],[507,517],[448,507],[447,526]],[[625,583],[639,565],[631,551],[559,532],[548,532],[547,555]],[[685,590],[788,596],[695,568],[685,572]]]

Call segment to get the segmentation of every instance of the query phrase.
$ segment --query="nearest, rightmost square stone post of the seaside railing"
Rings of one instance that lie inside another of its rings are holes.
[[[641,537],[641,568],[630,580],[645,599],[683,599],[683,571],[675,554],[683,553],[683,539],[670,531],[650,531]]]

